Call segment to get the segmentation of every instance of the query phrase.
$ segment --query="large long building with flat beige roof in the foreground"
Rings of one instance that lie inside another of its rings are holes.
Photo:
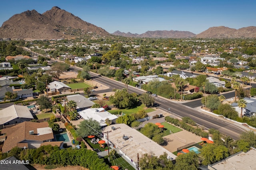
[[[166,153],[168,160],[176,159],[176,155],[172,152],[124,123],[104,127],[103,135],[106,141],[115,146],[116,151],[120,152],[126,160],[130,161],[135,169],[138,164],[138,154],[154,153],[154,156],[159,157]]]

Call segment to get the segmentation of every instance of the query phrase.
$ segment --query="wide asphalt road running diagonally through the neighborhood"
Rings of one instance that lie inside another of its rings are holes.
[[[98,76],[98,74],[90,73],[92,77],[94,77],[95,81],[101,82],[102,84],[106,84],[107,86],[110,86],[110,89],[112,88],[126,88],[126,86],[122,82],[116,82],[114,80],[110,80],[108,78]],[[110,90],[109,89],[109,90]],[[136,94],[142,94],[145,91],[140,90],[138,88],[129,87],[128,92],[133,92]],[[233,97],[234,95],[231,93],[225,94],[226,98]],[[230,97],[229,97],[230,96]],[[237,140],[240,138],[240,134],[244,132],[243,129],[241,129],[239,126],[236,126],[235,124],[231,124],[228,121],[218,118],[218,117],[212,117],[210,115],[206,115],[204,113],[200,113],[199,111],[196,111],[195,109],[192,109],[191,107],[185,106],[184,104],[179,104],[175,102],[171,102],[168,99],[162,98],[162,97],[154,97],[156,103],[159,104],[159,107],[163,110],[170,111],[174,115],[178,117],[191,117],[198,125],[202,125],[206,129],[214,128],[219,130],[221,133],[230,136],[231,138]],[[200,103],[200,100],[193,101],[191,105],[193,107],[195,105],[198,105],[198,102]],[[188,102],[190,103],[190,102]],[[190,104],[188,104],[190,105]],[[201,104],[199,105],[201,106]]]

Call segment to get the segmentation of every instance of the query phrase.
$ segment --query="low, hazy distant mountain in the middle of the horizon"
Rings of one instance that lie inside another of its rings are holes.
[[[123,33],[120,31],[115,31],[112,35],[118,35],[123,37],[147,37],[147,38],[190,38],[195,37],[196,34],[189,31],[146,31],[142,34],[132,34],[130,32]]]

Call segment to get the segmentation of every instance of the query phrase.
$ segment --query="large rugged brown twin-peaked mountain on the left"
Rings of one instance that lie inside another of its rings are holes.
[[[36,10],[15,14],[0,27],[0,37],[12,39],[71,38],[87,33],[110,35],[104,29],[56,6],[43,14]]]

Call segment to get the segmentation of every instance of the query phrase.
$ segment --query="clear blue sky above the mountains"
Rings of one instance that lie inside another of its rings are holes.
[[[256,26],[255,0],[1,0],[0,25],[14,14],[40,14],[58,6],[84,21],[114,31],[190,31]]]

